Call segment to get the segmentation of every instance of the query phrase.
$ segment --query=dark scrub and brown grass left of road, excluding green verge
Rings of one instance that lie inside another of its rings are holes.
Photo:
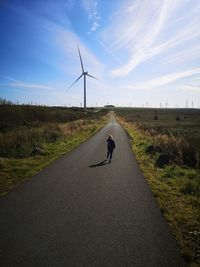
[[[44,143],[85,130],[107,111],[0,104],[0,157],[25,158],[42,152]],[[37,149],[36,149],[37,148]]]

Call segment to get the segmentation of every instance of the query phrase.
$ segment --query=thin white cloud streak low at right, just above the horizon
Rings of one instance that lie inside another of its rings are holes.
[[[134,85],[129,85],[127,86],[128,88],[134,88],[134,89],[153,89],[153,88],[157,88],[157,87],[161,87],[161,86],[165,86],[167,84],[170,84],[174,81],[183,79],[183,78],[187,78],[187,77],[192,77],[194,75],[200,75],[200,68],[196,68],[196,69],[191,69],[191,70],[186,70],[186,71],[182,71],[182,72],[175,72],[175,73],[171,73],[168,75],[164,75],[152,80],[148,80],[142,83],[137,83]]]

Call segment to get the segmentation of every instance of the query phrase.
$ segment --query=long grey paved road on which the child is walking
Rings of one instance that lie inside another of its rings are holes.
[[[0,249],[3,267],[185,266],[115,121],[0,199]]]

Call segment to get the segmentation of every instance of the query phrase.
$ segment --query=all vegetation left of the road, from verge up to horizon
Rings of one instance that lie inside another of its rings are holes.
[[[106,110],[0,105],[0,195],[100,129]]]

